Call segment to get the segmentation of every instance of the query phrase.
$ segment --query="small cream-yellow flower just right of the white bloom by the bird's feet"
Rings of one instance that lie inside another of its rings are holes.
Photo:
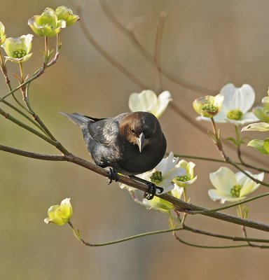
[[[191,185],[196,181],[197,176],[193,175],[195,163],[180,160],[176,167],[181,167],[186,170],[186,174],[184,176],[177,176],[172,180],[177,186],[186,188],[188,185]]]

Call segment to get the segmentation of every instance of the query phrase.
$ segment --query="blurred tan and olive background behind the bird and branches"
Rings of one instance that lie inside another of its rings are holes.
[[[123,31],[135,27],[135,38],[153,54],[160,13],[170,6],[163,27],[160,57],[163,90],[169,90],[174,104],[191,120],[197,116],[192,102],[206,94],[217,94],[226,83],[240,87],[249,83],[256,92],[256,103],[267,95],[269,77],[269,2],[266,0],[95,0],[76,1],[3,1],[1,22],[7,36],[32,33],[27,20],[40,15],[46,7],[76,6],[83,13],[81,22],[62,31],[62,52],[57,64],[46,70],[30,87],[34,110],[55,137],[75,155],[91,160],[81,131],[60,116],[59,111],[80,112],[96,118],[116,116],[129,111],[132,92],[156,90],[154,67]],[[111,21],[114,15],[118,23]],[[94,38],[99,50],[86,38]],[[120,27],[121,26],[121,27]],[[130,33],[129,33],[130,34]],[[50,47],[54,48],[54,38]],[[124,66],[138,82],[111,64],[100,48]],[[34,36],[32,58],[25,72],[32,74],[42,64],[43,39]],[[8,63],[11,73],[18,65]],[[172,79],[174,78],[174,81]],[[177,83],[175,83],[175,81]],[[1,95],[8,92],[4,79]],[[16,93],[20,97],[20,92]],[[11,99],[10,99],[11,100]],[[4,108],[4,106],[3,106]],[[5,107],[6,109],[6,107]],[[170,106],[160,119],[167,137],[167,151],[179,155],[221,158],[206,133],[209,123],[191,125]],[[8,120],[0,119],[1,144],[38,153],[57,154],[45,141],[25,132]],[[221,125],[223,138],[234,135],[234,128]],[[244,132],[251,138],[265,134]],[[243,158],[256,166],[267,167],[267,158],[251,148]],[[235,152],[226,148],[235,158]],[[67,225],[46,225],[50,205],[71,197],[72,221],[83,237],[101,243],[141,232],[168,228],[167,216],[147,211],[132,201],[118,183],[107,186],[106,179],[67,162],[43,162],[0,152],[0,279],[268,279],[268,251],[257,248],[205,249],[180,244],[170,234],[135,239],[121,244],[91,248],[80,244]],[[209,172],[221,165],[193,160],[198,181],[188,189],[191,202],[215,208],[207,190],[212,188]],[[266,192],[265,187],[256,191]],[[249,218],[269,223],[266,199],[248,204]],[[235,209],[226,213],[236,215]],[[193,216],[188,225],[226,235],[242,235],[239,226],[212,218]],[[265,232],[248,230],[252,237],[268,238]],[[190,232],[180,236],[194,244],[228,245]],[[232,243],[233,245],[233,243]]]

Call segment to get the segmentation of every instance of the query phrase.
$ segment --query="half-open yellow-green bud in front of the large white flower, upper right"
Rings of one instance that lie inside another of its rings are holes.
[[[220,94],[216,95],[215,97],[212,95],[207,95],[205,97],[195,99],[193,102],[193,108],[201,116],[213,118],[221,110],[222,102],[223,96]]]

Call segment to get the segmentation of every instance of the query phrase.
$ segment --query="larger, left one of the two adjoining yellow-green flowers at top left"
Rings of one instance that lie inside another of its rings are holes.
[[[55,10],[46,8],[41,15],[34,15],[28,20],[29,27],[39,36],[55,36],[66,27],[64,20],[58,20]]]

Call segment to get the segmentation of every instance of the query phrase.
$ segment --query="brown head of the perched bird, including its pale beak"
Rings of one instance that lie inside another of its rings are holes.
[[[137,145],[140,153],[145,146],[163,136],[158,119],[147,112],[128,113],[120,123],[119,132],[122,139]]]

